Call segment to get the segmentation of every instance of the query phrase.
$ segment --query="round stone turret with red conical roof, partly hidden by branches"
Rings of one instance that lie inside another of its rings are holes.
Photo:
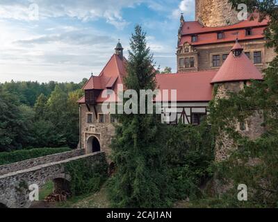
[[[254,66],[252,61],[243,52],[243,47],[238,41],[231,49],[229,56],[215,74],[211,84],[217,85],[215,99],[227,98],[227,92],[239,92],[245,85],[250,85],[250,80],[263,80],[260,71]],[[263,119],[259,110],[254,110],[254,114],[245,120],[245,123],[234,123],[234,127],[241,135],[256,139],[260,137],[264,128],[261,126]],[[230,139],[226,133],[220,133],[216,140],[215,160],[221,161],[229,157],[229,152],[238,148],[238,145]]]

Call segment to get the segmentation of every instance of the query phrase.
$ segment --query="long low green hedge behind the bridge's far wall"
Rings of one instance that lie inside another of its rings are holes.
[[[0,165],[12,164],[13,162],[20,162],[23,160],[42,157],[45,155],[53,155],[56,153],[63,153],[71,151],[70,148],[33,148],[30,150],[19,150],[14,152],[0,153]]]

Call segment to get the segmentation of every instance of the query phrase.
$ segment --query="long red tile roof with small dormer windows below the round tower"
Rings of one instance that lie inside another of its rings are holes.
[[[204,27],[199,22],[185,22],[181,30],[181,41],[179,46],[185,42],[194,45],[213,44],[220,42],[234,42],[236,39],[235,32],[238,32],[238,40],[254,40],[264,37],[263,31],[268,26],[268,19],[259,22],[259,17],[256,15],[254,20],[248,19],[239,22],[238,24],[222,27]],[[252,35],[245,35],[245,28],[252,28]],[[217,33],[223,32],[224,38],[218,40]],[[197,42],[192,42],[191,36],[198,35]]]

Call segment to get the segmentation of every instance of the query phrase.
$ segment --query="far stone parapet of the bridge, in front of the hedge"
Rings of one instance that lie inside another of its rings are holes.
[[[22,162],[15,162],[13,164],[7,164],[0,166],[0,175],[6,173],[20,171],[22,169],[28,169],[31,167],[36,167],[42,164],[47,164],[50,162],[58,162],[62,160],[67,160],[72,157],[78,157],[79,155],[85,155],[85,149],[76,149],[74,151],[68,151],[64,153],[56,153],[54,155],[46,155],[44,157],[38,157],[34,159],[24,160]]]

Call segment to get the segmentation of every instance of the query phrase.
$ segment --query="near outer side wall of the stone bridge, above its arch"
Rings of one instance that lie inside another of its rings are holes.
[[[61,187],[70,181],[70,175],[65,172],[65,164],[74,160],[88,159],[91,162],[99,160],[102,152],[80,155],[58,162],[48,162],[20,171],[14,171],[0,176],[0,205],[6,207],[30,207],[28,187],[36,184],[42,187],[46,182],[53,180],[54,187]],[[60,183],[60,185],[59,185]]]

